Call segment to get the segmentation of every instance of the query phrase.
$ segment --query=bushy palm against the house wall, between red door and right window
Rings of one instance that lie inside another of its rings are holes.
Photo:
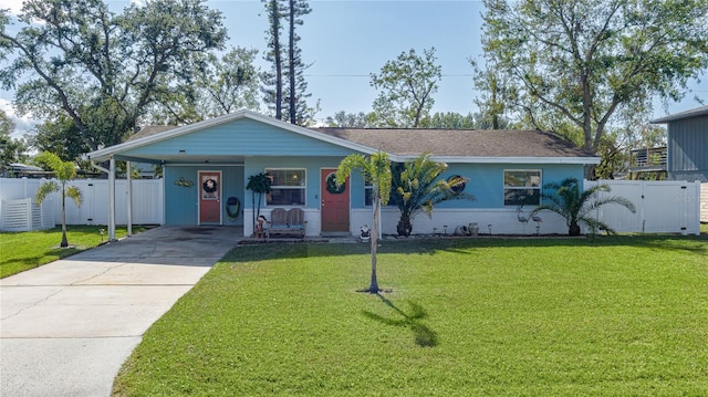
[[[447,164],[433,161],[429,153],[405,164],[396,164],[393,168],[392,195],[400,210],[396,227],[398,236],[410,236],[412,220],[420,212],[433,217],[433,207],[439,202],[476,199],[458,189],[464,188],[469,179],[460,176],[439,178],[447,170]]]

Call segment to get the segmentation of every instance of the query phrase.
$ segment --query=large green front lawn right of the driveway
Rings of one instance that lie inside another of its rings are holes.
[[[708,395],[708,239],[239,247],[117,396]]]

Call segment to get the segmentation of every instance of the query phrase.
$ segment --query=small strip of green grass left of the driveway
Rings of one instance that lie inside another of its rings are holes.
[[[66,240],[70,247],[67,248],[59,247],[62,242],[61,226],[48,230],[2,232],[0,233],[0,253],[2,253],[0,257],[0,279],[100,245],[102,243],[101,229],[106,231],[103,236],[103,241],[105,241],[108,238],[108,229],[105,226],[69,226]],[[142,227],[133,228],[134,233],[143,230]],[[116,238],[123,238],[126,233],[126,229],[116,228]]]

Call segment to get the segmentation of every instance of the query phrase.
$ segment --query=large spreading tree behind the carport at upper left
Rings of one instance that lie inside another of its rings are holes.
[[[222,48],[222,17],[202,2],[150,0],[116,15],[101,0],[27,0],[17,34],[0,18],[14,55],[0,82],[17,88],[20,114],[67,116],[91,150],[118,144],[149,106],[176,100],[194,56]]]

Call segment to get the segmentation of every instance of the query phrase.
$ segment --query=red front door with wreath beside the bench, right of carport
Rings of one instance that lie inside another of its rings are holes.
[[[336,169],[321,171],[322,231],[350,231],[350,179],[334,184]]]

